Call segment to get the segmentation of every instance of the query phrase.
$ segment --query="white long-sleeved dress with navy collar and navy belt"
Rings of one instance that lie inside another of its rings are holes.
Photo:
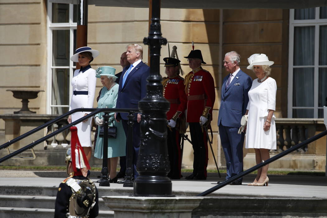
[[[87,91],[88,94],[77,94],[72,96],[69,110],[76,108],[93,108],[93,101],[95,95],[95,70],[90,65],[75,70],[72,78],[72,86],[74,91]],[[76,112],[72,114],[72,122],[83,117],[84,114],[90,112]],[[91,147],[91,122],[92,117],[87,122],[75,125],[77,127],[77,135],[79,142],[83,147]]]

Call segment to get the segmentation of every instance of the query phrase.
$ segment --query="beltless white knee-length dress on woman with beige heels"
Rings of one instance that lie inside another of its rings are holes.
[[[264,124],[268,116],[268,109],[276,109],[276,81],[268,77],[259,83],[254,79],[248,93],[249,110],[248,125],[246,130],[245,148],[276,149],[275,115],[271,118],[270,129],[264,131]]]

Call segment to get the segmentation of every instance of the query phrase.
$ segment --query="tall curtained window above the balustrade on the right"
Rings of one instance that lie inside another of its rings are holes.
[[[288,117],[323,118],[327,97],[327,7],[291,9]]]

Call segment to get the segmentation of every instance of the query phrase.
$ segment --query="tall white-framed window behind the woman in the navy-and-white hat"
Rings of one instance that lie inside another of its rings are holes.
[[[70,57],[76,48],[77,7],[48,2],[47,113],[69,109],[70,81],[76,68]]]

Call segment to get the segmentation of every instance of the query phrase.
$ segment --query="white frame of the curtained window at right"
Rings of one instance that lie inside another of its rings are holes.
[[[319,91],[319,68],[327,65],[319,65],[319,26],[327,25],[327,19],[320,19],[320,7],[315,8],[315,19],[294,20],[295,9],[290,9],[289,16],[289,53],[288,53],[288,110],[287,116],[293,118],[293,109],[313,109],[313,117],[318,118],[318,91]],[[314,65],[294,66],[294,27],[298,26],[315,26],[315,57]],[[313,107],[293,107],[293,69],[294,68],[314,68],[314,106]]]

